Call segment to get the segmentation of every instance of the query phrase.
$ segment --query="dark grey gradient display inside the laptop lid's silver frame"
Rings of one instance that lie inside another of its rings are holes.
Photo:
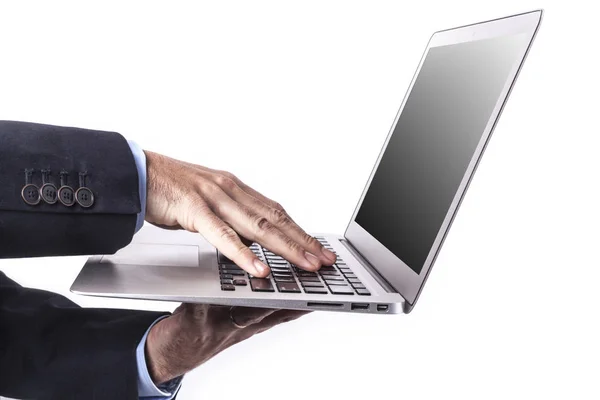
[[[355,218],[417,274],[526,40],[432,47],[423,61]]]

